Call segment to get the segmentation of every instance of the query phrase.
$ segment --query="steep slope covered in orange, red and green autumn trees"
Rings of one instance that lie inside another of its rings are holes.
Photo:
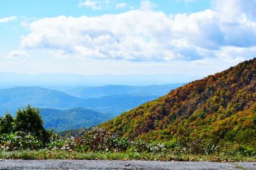
[[[256,138],[255,101],[256,59],[252,59],[172,90],[100,127],[130,139],[248,142]]]

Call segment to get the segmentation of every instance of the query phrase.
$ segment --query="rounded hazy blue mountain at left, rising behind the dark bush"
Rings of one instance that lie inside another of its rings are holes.
[[[39,108],[67,109],[83,106],[83,102],[83,99],[41,87],[0,89],[0,112],[2,115],[5,111],[15,113],[17,108],[28,104]]]

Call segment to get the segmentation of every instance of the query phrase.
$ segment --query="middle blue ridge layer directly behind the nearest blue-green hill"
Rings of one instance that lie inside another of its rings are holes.
[[[55,108],[59,110],[83,107],[118,115],[156,98],[157,96],[122,94],[82,99],[58,90],[42,87],[14,87],[12,89],[0,89],[0,114],[3,115],[6,111],[15,113],[21,106],[31,104],[39,108]]]

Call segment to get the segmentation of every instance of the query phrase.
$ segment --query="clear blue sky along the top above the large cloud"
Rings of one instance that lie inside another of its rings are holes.
[[[92,10],[90,6],[87,8],[81,8],[79,3],[85,1],[79,0],[45,0],[45,1],[2,1],[1,2],[1,17],[10,16],[24,16],[24,17],[58,17],[60,15],[80,17],[82,15],[95,16],[103,15],[106,13],[121,13],[131,9],[140,8],[140,0],[129,0],[129,1],[109,1],[108,6],[104,6],[103,3],[100,10]],[[104,1],[102,1],[104,2]],[[118,8],[116,4],[127,4],[131,8]],[[196,11],[205,10],[211,8],[211,1],[209,0],[197,0],[197,1],[182,1],[182,0],[166,0],[166,1],[152,1],[156,4],[155,10],[163,11],[166,14],[170,13],[191,13]],[[86,7],[86,6],[85,6]]]

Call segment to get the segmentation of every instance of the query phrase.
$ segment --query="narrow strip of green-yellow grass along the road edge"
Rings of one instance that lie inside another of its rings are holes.
[[[244,157],[243,155],[185,155],[173,153],[148,153],[148,152],[68,152],[62,150],[23,150],[0,151],[1,159],[75,159],[75,160],[180,160],[180,161],[214,161],[236,162],[256,161],[256,157]]]

